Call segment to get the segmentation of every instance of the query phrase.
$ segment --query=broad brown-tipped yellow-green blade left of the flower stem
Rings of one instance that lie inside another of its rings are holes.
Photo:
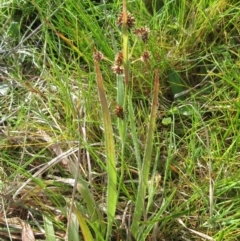
[[[95,61],[95,71],[97,74],[97,88],[102,108],[103,124],[104,124],[104,136],[105,136],[105,148],[106,148],[106,161],[107,161],[107,173],[108,173],[108,186],[107,186],[107,216],[108,227],[106,240],[109,240],[112,223],[115,216],[117,205],[117,170],[116,170],[116,156],[115,145],[113,139],[113,130],[110,112],[108,109],[108,103],[103,87],[103,79],[100,71],[98,61]]]

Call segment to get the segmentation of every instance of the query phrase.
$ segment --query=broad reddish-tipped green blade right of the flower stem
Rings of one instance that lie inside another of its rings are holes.
[[[133,214],[133,223],[131,227],[132,233],[135,237],[137,235],[139,222],[143,213],[144,200],[145,200],[146,189],[148,185],[148,175],[149,175],[149,169],[150,169],[150,160],[152,155],[154,130],[155,130],[156,115],[157,115],[157,107],[158,107],[158,88],[159,88],[159,75],[158,75],[158,71],[156,71],[153,100],[152,100],[152,110],[151,110],[150,121],[148,126],[148,133],[147,133],[147,142],[146,142],[145,152],[143,157],[142,170],[141,170],[141,173],[139,173],[140,183],[138,187],[136,206]]]

